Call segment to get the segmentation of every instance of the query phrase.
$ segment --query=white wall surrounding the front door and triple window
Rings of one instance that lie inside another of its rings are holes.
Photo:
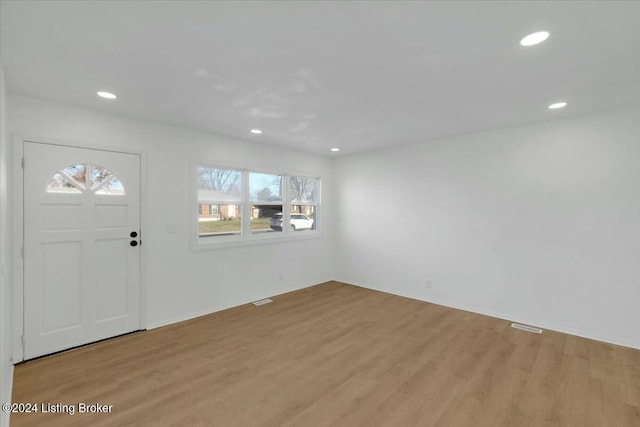
[[[326,232],[318,239],[201,252],[191,251],[189,240],[192,158],[321,176],[325,212],[331,209],[330,159],[22,96],[10,96],[10,103],[14,135],[144,151],[148,327],[332,279],[330,215],[323,217]],[[168,233],[169,224],[177,224],[178,233]]]

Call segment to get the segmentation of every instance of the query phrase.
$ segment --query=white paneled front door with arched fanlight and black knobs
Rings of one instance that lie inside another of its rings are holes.
[[[24,143],[24,355],[140,329],[140,156]]]

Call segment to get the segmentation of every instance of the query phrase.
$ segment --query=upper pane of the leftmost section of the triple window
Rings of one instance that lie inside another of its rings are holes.
[[[242,173],[231,169],[198,168],[198,203],[242,200]]]

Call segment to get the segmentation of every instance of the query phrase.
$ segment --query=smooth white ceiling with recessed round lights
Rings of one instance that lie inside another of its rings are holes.
[[[3,0],[0,12],[10,93],[321,155],[640,105],[637,1]],[[520,46],[538,30],[550,38]]]

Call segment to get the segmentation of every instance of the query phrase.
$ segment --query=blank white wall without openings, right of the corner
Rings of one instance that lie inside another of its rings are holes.
[[[349,156],[334,172],[338,280],[640,348],[640,110]]]

